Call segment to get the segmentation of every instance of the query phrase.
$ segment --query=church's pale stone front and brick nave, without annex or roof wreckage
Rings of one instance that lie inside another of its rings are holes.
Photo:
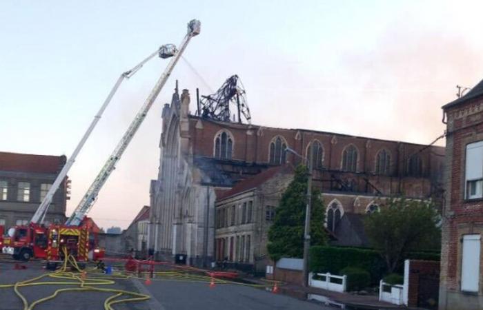
[[[148,247],[164,258],[184,254],[193,264],[214,260],[215,201],[239,181],[270,167],[298,165],[301,159],[286,154],[286,147],[303,156],[313,150],[314,185],[324,193],[332,231],[339,223],[357,231],[360,218],[349,214],[377,209],[378,198],[441,193],[442,147],[214,121],[190,115],[189,107],[188,90],[181,98],[175,92],[162,114]],[[339,233],[342,244],[353,241],[348,235]]]

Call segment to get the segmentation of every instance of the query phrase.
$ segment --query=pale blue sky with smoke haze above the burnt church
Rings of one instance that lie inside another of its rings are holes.
[[[117,77],[159,45],[184,58],[90,216],[128,227],[157,178],[161,109],[179,87],[210,94],[238,74],[257,125],[427,144],[456,85],[483,79],[480,1],[0,1],[0,150],[70,156]],[[77,157],[67,216],[167,61],[125,81]],[[201,78],[199,77],[201,76]],[[195,111],[192,100],[191,111]],[[442,141],[439,145],[444,144]]]

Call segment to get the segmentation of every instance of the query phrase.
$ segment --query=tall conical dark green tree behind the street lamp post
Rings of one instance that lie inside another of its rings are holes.
[[[268,230],[268,254],[277,261],[282,257],[302,258],[304,252],[304,225],[307,197],[307,169],[295,168],[295,176],[288,185],[275,220]],[[317,189],[312,191],[311,245],[324,245],[324,205]]]

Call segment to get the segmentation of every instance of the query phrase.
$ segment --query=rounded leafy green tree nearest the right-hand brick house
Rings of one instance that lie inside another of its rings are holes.
[[[424,200],[391,199],[364,219],[371,245],[380,252],[392,273],[409,251],[440,245],[440,215]]]

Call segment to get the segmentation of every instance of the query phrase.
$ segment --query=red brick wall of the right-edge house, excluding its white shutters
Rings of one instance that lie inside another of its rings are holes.
[[[481,84],[481,83],[480,83]],[[480,85],[479,84],[479,85]],[[477,85],[478,87],[478,85]],[[474,88],[474,90],[477,89]],[[465,196],[466,145],[483,141],[483,96],[470,92],[444,108],[448,119],[446,138],[446,193],[443,210],[440,309],[482,309],[483,255],[477,293],[462,291],[462,238],[483,234],[483,199]]]

